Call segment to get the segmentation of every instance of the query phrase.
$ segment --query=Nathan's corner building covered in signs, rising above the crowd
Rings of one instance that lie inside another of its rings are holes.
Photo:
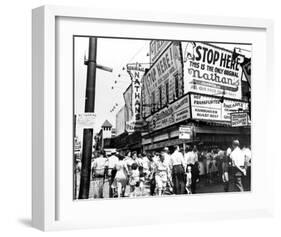
[[[157,56],[142,78],[142,113],[149,125],[142,134],[143,150],[186,143],[226,148],[233,139],[249,145],[251,94],[242,60],[246,56],[238,60],[233,44],[159,45],[159,53],[152,47],[150,54]],[[239,48],[251,50],[247,45]],[[184,139],[183,128],[190,133]]]

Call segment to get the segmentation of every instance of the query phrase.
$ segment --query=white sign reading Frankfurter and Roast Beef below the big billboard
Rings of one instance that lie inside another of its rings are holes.
[[[230,115],[239,110],[248,110],[248,103],[191,94],[192,118],[198,120],[230,122]]]

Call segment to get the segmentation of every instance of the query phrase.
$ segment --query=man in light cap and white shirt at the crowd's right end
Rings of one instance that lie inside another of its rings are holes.
[[[242,183],[245,172],[245,156],[239,147],[239,141],[234,140],[232,142],[233,151],[230,154],[230,159],[234,166],[235,188],[236,191],[243,192],[244,187]]]

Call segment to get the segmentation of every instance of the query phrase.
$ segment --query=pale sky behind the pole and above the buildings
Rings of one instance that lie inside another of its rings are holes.
[[[99,132],[101,125],[107,119],[115,127],[116,113],[124,105],[123,92],[130,84],[130,77],[126,70],[128,63],[149,63],[150,40],[98,38],[97,64],[113,69],[113,72],[97,69],[96,71],[96,120],[94,133]],[[84,112],[87,66],[84,56],[88,56],[88,37],[75,37],[74,41],[74,113]],[[233,50],[237,45],[216,44],[217,46]],[[240,48],[251,50],[249,45],[239,45]],[[117,81],[117,83],[115,83]],[[112,89],[113,87],[113,89]],[[113,109],[115,107],[115,109]],[[113,109],[113,110],[112,110]],[[77,128],[77,135],[81,137],[82,128]]]

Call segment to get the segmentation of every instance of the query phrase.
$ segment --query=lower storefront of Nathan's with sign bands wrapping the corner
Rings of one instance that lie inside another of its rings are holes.
[[[246,101],[187,93],[147,118],[149,131],[142,136],[143,150],[159,151],[164,147],[183,144],[196,144],[204,149],[215,146],[225,149],[233,139],[239,139],[242,145],[249,145],[247,111]],[[233,114],[246,114],[246,123],[233,124]],[[180,138],[181,127],[190,128],[188,139]]]

